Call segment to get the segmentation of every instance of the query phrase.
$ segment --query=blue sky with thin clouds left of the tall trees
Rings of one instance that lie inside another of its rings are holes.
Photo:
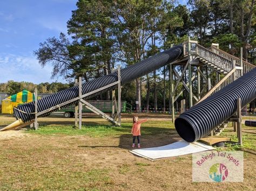
[[[186,4],[187,0],[180,0]],[[41,67],[33,51],[50,37],[67,33],[66,22],[77,0],[0,0],[0,83],[14,80],[35,84],[51,79],[52,66]]]

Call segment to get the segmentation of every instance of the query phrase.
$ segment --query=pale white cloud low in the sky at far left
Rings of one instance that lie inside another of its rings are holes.
[[[26,81],[33,83],[52,82],[52,67],[47,65],[42,68],[33,56],[20,56],[14,54],[0,54],[0,83],[8,80]],[[65,80],[59,79],[60,82]]]

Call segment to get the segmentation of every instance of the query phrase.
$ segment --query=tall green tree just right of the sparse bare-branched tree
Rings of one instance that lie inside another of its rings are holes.
[[[82,51],[76,54],[83,58],[82,65],[94,68],[95,76],[100,77],[111,73],[114,63],[112,1],[79,0],[77,10],[72,11],[72,18],[68,21],[68,31],[77,44],[73,46]],[[97,9],[96,9],[97,8]],[[75,51],[72,51],[75,52]],[[79,63],[75,63],[76,71],[83,71]],[[86,71],[85,71],[86,72]],[[107,94],[107,100],[109,100]]]

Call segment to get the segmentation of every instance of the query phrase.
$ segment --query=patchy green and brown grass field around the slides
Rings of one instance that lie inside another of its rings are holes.
[[[169,116],[140,115],[142,147],[161,146],[180,140]],[[0,126],[15,121],[0,116]],[[156,161],[131,154],[132,115],[122,127],[102,118],[83,118],[81,130],[74,119],[39,118],[37,131],[0,132],[1,190],[255,190],[256,128],[243,126],[244,145],[221,150],[242,150],[244,182],[192,182],[192,155]],[[232,128],[223,135],[237,140]]]

